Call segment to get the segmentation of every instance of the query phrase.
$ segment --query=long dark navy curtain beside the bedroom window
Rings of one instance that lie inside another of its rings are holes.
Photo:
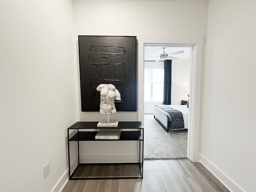
[[[171,104],[172,86],[172,60],[164,61],[164,101],[163,104]]]

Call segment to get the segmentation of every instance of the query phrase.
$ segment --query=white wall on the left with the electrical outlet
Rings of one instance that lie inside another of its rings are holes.
[[[0,2],[1,192],[50,192],[67,178],[66,129],[76,121],[72,8],[72,0]]]

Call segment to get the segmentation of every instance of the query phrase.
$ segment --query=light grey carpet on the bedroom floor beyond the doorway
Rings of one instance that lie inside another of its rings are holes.
[[[144,114],[144,159],[187,158],[188,130],[166,132],[154,119]]]

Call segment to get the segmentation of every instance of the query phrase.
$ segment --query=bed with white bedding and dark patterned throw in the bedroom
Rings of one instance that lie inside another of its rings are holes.
[[[154,118],[166,132],[188,129],[187,105],[157,105],[154,107]]]

